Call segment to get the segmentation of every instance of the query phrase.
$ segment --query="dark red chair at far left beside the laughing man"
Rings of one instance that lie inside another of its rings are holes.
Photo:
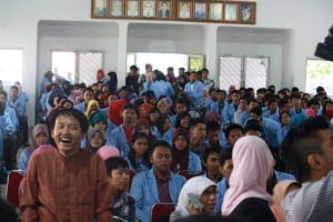
[[[19,186],[20,182],[23,179],[23,171],[11,171],[8,174],[8,183],[7,183],[7,201],[13,204],[16,208],[20,206],[19,201]]]

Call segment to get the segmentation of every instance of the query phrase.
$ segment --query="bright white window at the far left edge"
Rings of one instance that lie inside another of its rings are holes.
[[[16,81],[22,83],[23,51],[0,49],[0,80],[3,87],[10,87]]]

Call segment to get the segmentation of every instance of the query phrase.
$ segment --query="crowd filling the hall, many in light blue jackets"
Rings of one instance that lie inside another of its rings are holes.
[[[123,87],[101,69],[92,85],[72,85],[47,72],[31,130],[21,84],[1,89],[0,158],[24,172],[22,221],[145,222],[157,203],[175,208],[160,221],[333,218],[333,101],[322,87],[226,91],[208,69],[175,75],[148,63],[143,74],[131,65]]]

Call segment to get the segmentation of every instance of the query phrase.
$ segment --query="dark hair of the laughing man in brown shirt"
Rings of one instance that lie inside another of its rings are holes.
[[[54,129],[56,120],[59,115],[75,118],[80,123],[81,132],[87,133],[87,131],[89,129],[88,119],[85,118],[85,115],[82,112],[80,112],[79,110],[75,110],[73,108],[58,108],[48,115],[47,125],[48,125],[50,132]]]

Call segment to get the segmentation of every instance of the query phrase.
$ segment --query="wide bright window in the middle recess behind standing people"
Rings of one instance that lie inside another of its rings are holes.
[[[165,63],[165,61],[168,61]],[[167,73],[168,67],[173,67],[174,74],[178,75],[178,69],[183,67],[186,70],[199,71],[204,67],[204,57],[200,54],[181,54],[181,53],[150,53],[138,52],[128,53],[127,70],[130,71],[132,64],[137,64],[140,73],[145,72],[145,63],[151,63],[153,69]]]

